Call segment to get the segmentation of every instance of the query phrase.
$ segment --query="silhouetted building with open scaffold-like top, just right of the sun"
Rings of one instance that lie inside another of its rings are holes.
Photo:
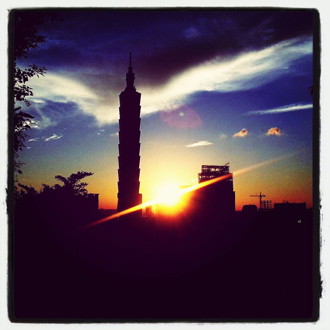
[[[205,215],[219,218],[235,214],[233,174],[228,164],[202,165],[202,171],[198,173],[198,184],[205,186],[196,190],[195,201]]]

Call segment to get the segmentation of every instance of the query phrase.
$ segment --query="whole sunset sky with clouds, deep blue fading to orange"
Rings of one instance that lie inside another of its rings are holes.
[[[119,93],[132,52],[141,96],[143,202],[202,165],[230,163],[236,209],[274,202],[312,207],[313,21],[309,11],[68,11],[39,27],[46,44],[21,68],[47,67],[28,85],[34,127],[19,182],[93,172],[88,192],[116,208]]]

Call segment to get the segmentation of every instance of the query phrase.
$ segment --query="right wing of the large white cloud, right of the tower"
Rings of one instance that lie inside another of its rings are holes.
[[[247,51],[231,60],[221,56],[200,63],[155,89],[140,88],[143,114],[176,109],[199,91],[249,90],[288,74],[302,56],[312,54],[312,40],[291,39],[257,51]],[[283,69],[285,67],[286,69]]]

